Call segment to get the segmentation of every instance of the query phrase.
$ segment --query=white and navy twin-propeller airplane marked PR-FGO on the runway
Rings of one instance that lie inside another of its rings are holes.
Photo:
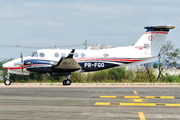
[[[146,32],[133,45],[100,50],[81,49],[40,49],[31,56],[3,64],[7,69],[4,84],[10,85],[10,74],[29,75],[30,73],[67,76],[63,85],[71,85],[72,72],[93,72],[153,62],[173,25],[147,26]]]

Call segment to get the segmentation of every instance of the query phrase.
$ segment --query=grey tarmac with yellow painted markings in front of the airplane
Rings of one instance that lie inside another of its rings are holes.
[[[180,85],[0,84],[0,119],[179,120]]]

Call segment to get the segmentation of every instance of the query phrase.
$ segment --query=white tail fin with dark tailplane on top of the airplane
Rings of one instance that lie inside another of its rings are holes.
[[[146,49],[145,54],[157,56],[169,30],[175,28],[175,26],[148,26],[144,28],[147,29],[147,31],[134,44],[134,46],[139,50]]]

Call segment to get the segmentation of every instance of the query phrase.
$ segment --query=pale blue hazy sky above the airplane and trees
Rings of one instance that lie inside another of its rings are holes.
[[[166,40],[180,48],[179,5],[180,0],[0,0],[0,60],[53,46],[84,49],[85,40],[88,46],[130,46],[151,25],[175,25]]]

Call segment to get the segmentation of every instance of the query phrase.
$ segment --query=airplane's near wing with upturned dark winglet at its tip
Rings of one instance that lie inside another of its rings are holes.
[[[52,66],[52,68],[72,72],[80,70],[81,66],[73,59],[74,52],[75,49],[72,49],[71,53],[66,58],[61,58],[56,65]]]

